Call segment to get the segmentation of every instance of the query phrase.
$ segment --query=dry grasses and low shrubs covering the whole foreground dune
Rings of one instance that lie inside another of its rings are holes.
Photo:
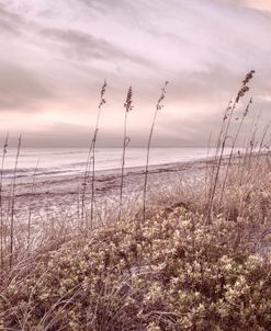
[[[18,235],[10,251],[2,225],[0,330],[270,330],[267,133],[257,138],[252,123],[236,153],[251,101],[230,134],[252,75],[226,110],[204,181],[149,196],[146,210],[122,210],[106,226],[55,221],[32,233],[31,250]]]

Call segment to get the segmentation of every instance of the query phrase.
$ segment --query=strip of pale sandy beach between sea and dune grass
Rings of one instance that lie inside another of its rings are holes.
[[[183,180],[194,180],[203,176],[206,160],[165,163],[149,167],[148,192],[170,187]],[[129,199],[140,201],[144,183],[144,167],[125,169],[124,203]],[[87,181],[86,206],[90,204],[90,183]],[[101,206],[105,201],[117,204],[120,197],[121,171],[112,169],[97,171],[95,173],[95,205]],[[78,217],[81,208],[81,193],[83,187],[83,173],[79,175],[58,175],[50,178],[36,176],[33,187],[33,179],[16,179],[14,215],[18,222],[27,220],[31,205],[33,220],[54,218],[59,213],[69,217]],[[11,194],[11,184],[3,183],[2,205],[3,214],[7,214]]]

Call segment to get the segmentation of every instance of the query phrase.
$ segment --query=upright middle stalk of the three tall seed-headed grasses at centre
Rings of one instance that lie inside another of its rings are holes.
[[[125,117],[124,117],[124,128],[123,128],[123,152],[122,152],[122,172],[121,172],[121,191],[120,191],[120,207],[118,207],[118,220],[122,218],[122,205],[123,205],[123,182],[124,182],[124,169],[125,169],[125,156],[126,148],[129,144],[129,137],[127,137],[127,117],[128,113],[133,110],[133,90],[132,87],[128,88],[126,102],[124,103]]]

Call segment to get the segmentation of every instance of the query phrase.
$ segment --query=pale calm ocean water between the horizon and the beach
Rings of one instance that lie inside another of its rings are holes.
[[[210,150],[212,156],[214,150]],[[9,149],[3,166],[3,178],[13,175],[16,149]],[[188,162],[204,159],[207,148],[151,148],[149,164]],[[32,176],[38,160],[38,176],[75,175],[86,169],[87,148],[24,148],[20,151],[16,175]],[[146,163],[146,148],[127,148],[125,167],[142,167]],[[98,148],[95,169],[113,170],[121,168],[121,148]]]

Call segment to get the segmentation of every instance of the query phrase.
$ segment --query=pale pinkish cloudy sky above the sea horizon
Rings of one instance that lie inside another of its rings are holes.
[[[0,0],[0,128],[11,144],[86,147],[104,79],[99,146],[205,146],[256,70],[252,112],[271,119],[270,0]]]

